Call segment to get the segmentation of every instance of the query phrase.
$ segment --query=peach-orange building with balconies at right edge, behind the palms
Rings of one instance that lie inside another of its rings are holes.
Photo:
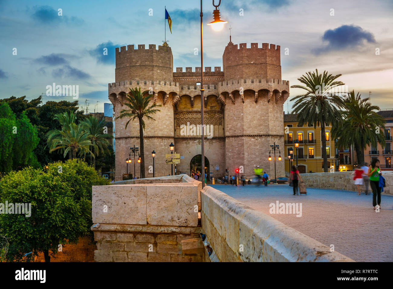
[[[378,143],[376,147],[367,146],[364,151],[364,161],[369,163],[371,159],[378,158],[380,163],[380,168],[384,171],[392,171],[393,170],[393,151],[392,151],[392,129],[393,129],[393,109],[382,109],[377,112],[380,116],[382,116],[385,123],[385,147]]]

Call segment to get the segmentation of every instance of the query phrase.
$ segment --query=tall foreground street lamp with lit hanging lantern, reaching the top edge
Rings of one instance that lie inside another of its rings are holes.
[[[214,15],[214,20],[210,22],[208,25],[211,26],[215,30],[219,30],[222,28],[224,23],[227,23],[226,21],[220,20],[220,10],[219,6],[221,4],[221,0],[219,1],[218,5],[214,5],[214,0],[213,0],[213,6],[216,8],[213,11]],[[203,13],[202,13],[202,0],[200,0],[200,124],[201,124],[201,156],[202,156],[202,164],[201,164],[201,169],[202,169],[202,176],[205,175],[205,135],[204,135],[204,96],[203,92],[205,91],[203,88]],[[202,181],[202,189],[205,186],[205,182]]]

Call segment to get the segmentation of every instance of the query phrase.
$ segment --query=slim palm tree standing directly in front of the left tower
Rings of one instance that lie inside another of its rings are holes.
[[[141,153],[141,178],[145,178],[145,157],[144,157],[144,149],[143,149],[143,130],[145,129],[145,121],[143,118],[147,118],[148,120],[154,120],[151,116],[156,112],[161,110],[157,109],[157,107],[161,107],[158,104],[150,104],[150,100],[152,95],[148,94],[149,90],[146,90],[141,93],[141,88],[130,88],[130,92],[126,94],[126,98],[128,102],[125,102],[124,105],[129,107],[129,109],[123,109],[120,111],[120,114],[116,120],[119,118],[129,118],[127,123],[125,124],[125,128],[127,129],[130,121],[134,121],[138,119],[139,121],[139,140],[140,140],[140,153]]]

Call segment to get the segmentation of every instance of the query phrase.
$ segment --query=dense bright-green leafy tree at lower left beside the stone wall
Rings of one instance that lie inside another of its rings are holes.
[[[0,214],[0,234],[9,241],[7,261],[31,261],[43,252],[49,262],[59,244],[92,236],[92,186],[107,184],[94,168],[77,159],[49,164],[45,171],[24,168],[4,177],[0,202],[31,204],[26,214]],[[24,257],[28,252],[32,256]]]

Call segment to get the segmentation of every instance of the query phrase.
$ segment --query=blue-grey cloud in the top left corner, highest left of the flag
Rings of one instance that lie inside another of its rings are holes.
[[[67,15],[64,15],[64,11],[62,11],[62,16],[59,16],[57,9],[53,9],[53,7],[47,5],[34,6],[33,10],[34,13],[31,15],[31,17],[42,24],[53,25],[66,23],[80,25],[84,22],[81,18],[75,16],[68,17]]]

